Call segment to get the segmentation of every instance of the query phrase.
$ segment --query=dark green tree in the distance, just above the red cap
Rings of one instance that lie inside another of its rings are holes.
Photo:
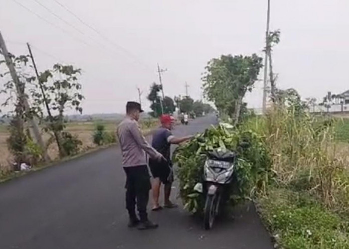
[[[166,114],[172,114],[175,110],[174,100],[170,97],[165,96],[163,103],[161,103],[161,97],[158,94],[161,90],[162,86],[156,83],[153,83],[150,88],[148,100],[152,103],[150,108],[153,110],[151,113],[153,117],[159,117],[162,114],[161,104],[163,104],[164,113]]]

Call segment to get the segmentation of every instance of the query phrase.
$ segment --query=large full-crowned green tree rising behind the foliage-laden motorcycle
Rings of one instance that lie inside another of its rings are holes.
[[[252,91],[262,68],[262,58],[251,56],[221,55],[207,63],[202,77],[204,93],[213,101],[220,112],[234,118],[237,124],[242,99],[247,91]]]

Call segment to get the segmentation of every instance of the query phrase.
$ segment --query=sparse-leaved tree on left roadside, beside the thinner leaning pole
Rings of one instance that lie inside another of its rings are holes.
[[[55,64],[51,70],[46,70],[39,75],[31,96],[34,107],[43,121],[46,131],[51,131],[56,140],[60,156],[71,155],[78,152],[81,141],[76,136],[64,131],[64,113],[67,109],[74,108],[82,114],[81,84],[78,76],[81,69],[72,65]],[[39,91],[40,84],[42,91]],[[47,116],[43,114],[42,107],[46,109]]]

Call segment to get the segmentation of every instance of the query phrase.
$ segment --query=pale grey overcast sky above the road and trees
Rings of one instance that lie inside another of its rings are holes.
[[[124,113],[127,101],[138,100],[137,87],[149,110],[157,63],[167,69],[165,95],[185,95],[187,82],[189,95],[201,99],[210,59],[263,56],[267,0],[0,0],[0,6],[11,53],[26,54],[29,42],[39,71],[57,62],[83,70],[85,114]],[[348,13],[348,0],[271,0],[271,30],[281,30],[273,50],[278,88],[319,100],[349,89]],[[262,106],[262,84],[246,96],[250,108]]]

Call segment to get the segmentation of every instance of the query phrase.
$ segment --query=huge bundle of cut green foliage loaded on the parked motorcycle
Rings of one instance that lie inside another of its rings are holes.
[[[242,149],[238,146],[241,142],[249,146]],[[193,188],[197,182],[202,182],[205,152],[218,147],[238,153],[235,165],[237,186],[230,193],[232,203],[249,198],[256,190],[262,190],[267,179],[270,160],[263,137],[242,128],[212,126],[174,152],[174,161],[178,164],[180,197],[185,209],[191,213],[203,210],[203,196]]]

